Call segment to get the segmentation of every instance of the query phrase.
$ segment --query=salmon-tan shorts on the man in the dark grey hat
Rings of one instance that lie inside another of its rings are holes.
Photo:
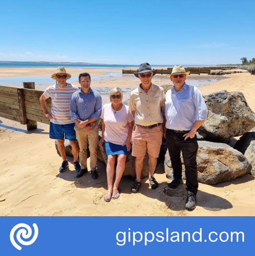
[[[132,133],[132,156],[143,156],[147,149],[148,154],[159,157],[162,136],[162,125],[150,129],[135,124]]]

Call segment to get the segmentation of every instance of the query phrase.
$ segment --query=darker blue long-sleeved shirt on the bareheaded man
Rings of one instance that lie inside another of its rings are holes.
[[[102,111],[102,98],[97,92],[94,92],[91,88],[88,93],[79,91],[72,94],[70,100],[70,113],[71,119],[80,119],[85,121],[90,117],[98,118]]]

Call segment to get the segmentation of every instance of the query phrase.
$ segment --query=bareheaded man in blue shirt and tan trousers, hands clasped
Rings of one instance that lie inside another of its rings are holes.
[[[81,89],[72,94],[70,100],[71,119],[75,122],[75,131],[80,146],[79,158],[81,170],[76,175],[80,178],[87,169],[87,148],[89,143],[90,168],[93,179],[98,177],[96,172],[97,146],[98,146],[98,118],[102,110],[102,98],[90,88],[91,77],[89,73],[79,75]]]

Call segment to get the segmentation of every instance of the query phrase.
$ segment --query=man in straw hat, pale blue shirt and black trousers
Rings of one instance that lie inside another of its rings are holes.
[[[170,76],[174,87],[166,95],[163,136],[174,171],[174,179],[168,184],[177,188],[183,184],[181,151],[185,165],[187,198],[185,208],[193,210],[197,206],[197,129],[204,123],[208,110],[202,93],[197,87],[185,83],[184,67],[174,66]]]

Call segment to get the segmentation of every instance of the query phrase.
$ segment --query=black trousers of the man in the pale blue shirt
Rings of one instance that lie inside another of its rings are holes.
[[[181,151],[185,165],[186,189],[197,194],[197,136],[184,140],[184,133],[166,129],[166,143],[174,170],[174,179],[182,178]]]

